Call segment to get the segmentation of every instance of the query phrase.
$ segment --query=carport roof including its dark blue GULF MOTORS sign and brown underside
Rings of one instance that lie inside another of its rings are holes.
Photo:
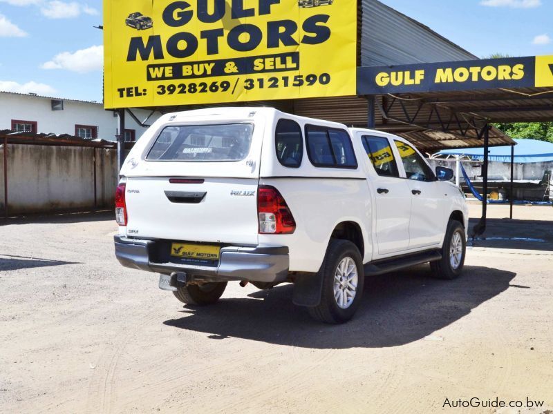
[[[421,150],[482,146],[489,123],[553,120],[553,57],[357,68],[357,94],[374,97],[377,128]],[[493,128],[489,145],[516,142]]]

